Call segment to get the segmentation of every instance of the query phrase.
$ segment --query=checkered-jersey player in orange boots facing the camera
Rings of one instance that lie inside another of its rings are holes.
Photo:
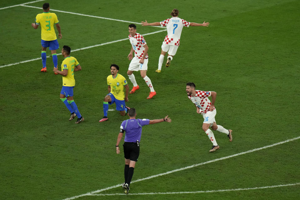
[[[135,77],[133,75],[133,71],[140,70],[141,77],[145,80],[148,87],[150,88],[150,93],[147,99],[151,99],[154,95],[156,95],[156,92],[153,88],[153,85],[151,83],[150,78],[147,76],[147,69],[148,69],[148,45],[142,35],[137,33],[137,27],[134,24],[130,24],[128,26],[129,31],[129,41],[131,43],[131,50],[128,54],[127,58],[128,60],[131,60],[127,75],[133,83],[133,88],[129,92],[130,94],[134,93],[136,90],[138,90],[140,87],[138,86],[137,81],[135,80]],[[133,51],[134,51],[134,57],[133,57]]]

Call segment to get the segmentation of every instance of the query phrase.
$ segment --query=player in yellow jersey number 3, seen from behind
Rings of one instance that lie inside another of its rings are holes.
[[[38,25],[41,25],[41,44],[42,44],[42,64],[43,68],[41,69],[41,72],[47,72],[46,68],[46,50],[47,47],[51,50],[52,54],[52,60],[54,67],[57,68],[57,55],[56,55],[56,49],[59,48],[56,33],[54,30],[54,24],[56,25],[56,28],[58,30],[58,37],[62,38],[62,33],[59,26],[59,21],[55,13],[49,12],[50,6],[49,3],[43,4],[43,13],[37,14],[35,17],[35,23],[32,23],[31,26],[34,29],[37,29]],[[55,73],[57,74],[57,73]]]

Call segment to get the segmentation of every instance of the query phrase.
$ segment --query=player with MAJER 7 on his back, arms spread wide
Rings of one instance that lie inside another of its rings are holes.
[[[178,17],[179,11],[177,9],[173,9],[171,12],[172,18],[166,19],[162,22],[153,22],[148,23],[147,20],[145,22],[141,22],[142,26],[161,26],[161,27],[167,27],[168,35],[165,37],[162,45],[162,53],[160,53],[159,59],[158,59],[158,69],[155,71],[157,73],[161,72],[162,65],[163,65],[163,58],[168,52],[168,60],[166,63],[166,67],[170,66],[171,60],[175,56],[179,42],[180,42],[180,36],[183,27],[189,27],[189,26],[208,26],[209,22],[203,22],[202,24],[194,23],[194,22],[187,22],[184,19],[181,19]]]

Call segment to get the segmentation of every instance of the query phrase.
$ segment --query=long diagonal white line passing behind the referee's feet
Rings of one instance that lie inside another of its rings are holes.
[[[222,157],[222,158],[217,158],[217,159],[210,160],[210,161],[207,161],[207,162],[204,162],[204,163],[198,163],[198,164],[194,164],[194,165],[187,166],[187,167],[184,167],[184,168],[175,169],[175,170],[172,170],[172,171],[169,171],[169,172],[160,173],[160,174],[153,175],[153,176],[149,176],[149,177],[146,177],[146,178],[141,178],[141,179],[132,181],[131,183],[136,183],[136,182],[144,181],[144,180],[147,180],[147,179],[156,178],[156,177],[159,177],[159,176],[163,176],[163,175],[166,175],[166,174],[170,174],[170,173],[182,171],[182,170],[189,169],[189,168],[193,168],[193,167],[197,167],[197,166],[204,165],[204,164],[207,164],[207,163],[213,163],[213,162],[216,162],[216,161],[225,160],[225,159],[227,159],[227,158],[232,158],[232,157],[235,157],[235,156],[240,156],[240,155],[243,155],[243,154],[246,154],[246,153],[252,153],[252,152],[259,151],[259,150],[262,150],[262,149],[266,149],[266,148],[269,148],[269,147],[274,147],[274,146],[279,145],[279,144],[291,142],[291,141],[297,140],[297,139],[300,139],[300,136],[297,137],[297,138],[288,139],[288,140],[285,140],[285,141],[282,141],[282,142],[279,142],[279,143],[267,145],[267,146],[264,146],[264,147],[261,147],[261,148],[256,148],[256,149],[252,149],[252,150],[245,151],[245,152],[242,152],[242,153],[233,154],[233,155],[231,155],[231,156],[226,156],[226,157]],[[96,190],[96,191],[93,191],[93,192],[88,192],[88,193],[81,194],[81,195],[78,195],[78,196],[65,198],[65,199],[63,199],[63,200],[71,200],[71,199],[77,199],[77,198],[79,198],[79,197],[91,196],[91,195],[93,195],[93,194],[95,194],[95,193],[98,193],[98,192],[103,192],[103,191],[106,191],[106,190],[109,190],[109,189],[112,189],[112,188],[120,187],[121,185],[122,185],[122,184],[110,186],[110,187],[107,187],[107,188],[104,188],[104,189],[100,189],[100,190]]]

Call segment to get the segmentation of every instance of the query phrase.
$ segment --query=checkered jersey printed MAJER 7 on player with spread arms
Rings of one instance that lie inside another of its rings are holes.
[[[161,27],[166,26],[168,30],[168,35],[163,41],[165,44],[179,46],[180,36],[182,28],[189,27],[190,22],[185,21],[179,17],[172,17],[160,22]]]

